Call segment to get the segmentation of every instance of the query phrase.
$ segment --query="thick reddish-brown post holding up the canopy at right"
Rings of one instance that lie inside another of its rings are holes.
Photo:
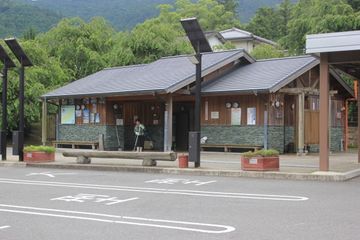
[[[329,65],[320,55],[320,171],[329,171]]]

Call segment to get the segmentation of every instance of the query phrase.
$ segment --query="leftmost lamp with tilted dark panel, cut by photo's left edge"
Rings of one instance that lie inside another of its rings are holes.
[[[1,159],[6,160],[6,139],[7,139],[7,74],[8,69],[16,67],[15,63],[11,60],[9,55],[6,53],[3,46],[0,45],[0,61],[3,63],[3,72],[1,75],[3,79],[2,86],[2,129],[0,135],[1,142]]]

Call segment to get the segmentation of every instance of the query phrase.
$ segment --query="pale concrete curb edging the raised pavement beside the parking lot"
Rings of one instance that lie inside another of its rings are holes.
[[[1,165],[0,165],[1,166]],[[18,164],[9,166],[18,166]],[[56,164],[56,163],[21,163],[21,166],[35,168],[76,169],[94,171],[158,173],[191,176],[217,176],[217,177],[246,177],[276,180],[299,180],[299,181],[322,181],[344,182],[360,176],[360,169],[345,173],[338,172],[314,172],[314,173],[286,173],[286,172],[255,172],[240,170],[211,170],[211,169],[183,169],[142,166],[119,166],[119,165],[83,165],[83,164]]]

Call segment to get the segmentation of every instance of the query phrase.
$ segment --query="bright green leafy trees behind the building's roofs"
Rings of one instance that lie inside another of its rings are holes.
[[[5,6],[6,7],[6,6]],[[0,12],[4,6],[0,7]],[[159,14],[131,30],[118,31],[102,17],[85,21],[64,18],[45,33],[27,29],[21,44],[34,63],[26,71],[26,126],[40,120],[39,97],[106,67],[148,63],[163,56],[187,54],[192,48],[179,20],[196,16],[203,30],[238,27],[279,43],[287,55],[303,54],[310,33],[360,29],[359,0],[284,0],[257,10],[248,24],[238,18],[233,0],[177,0],[158,6]],[[0,44],[5,46],[0,40]],[[255,49],[257,58],[278,56],[279,49]],[[10,52],[10,51],[9,51]],[[2,66],[0,66],[2,67]],[[18,119],[18,71],[9,74],[9,130]]]

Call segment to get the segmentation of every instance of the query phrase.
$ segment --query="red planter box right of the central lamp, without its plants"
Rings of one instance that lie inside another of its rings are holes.
[[[241,157],[241,169],[245,171],[279,171],[279,157]]]

